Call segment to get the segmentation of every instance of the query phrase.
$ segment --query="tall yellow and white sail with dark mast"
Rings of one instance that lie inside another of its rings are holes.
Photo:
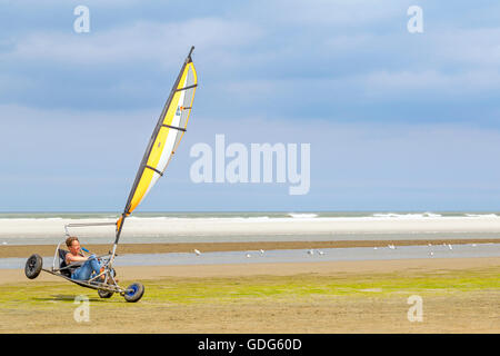
[[[151,135],[132,189],[130,190],[126,208],[117,221],[117,238],[114,244],[118,244],[124,219],[132,214],[158,179],[163,176],[167,166],[186,132],[194,99],[194,91],[198,87],[198,77],[191,59],[193,49],[194,47],[191,48],[182,65]]]

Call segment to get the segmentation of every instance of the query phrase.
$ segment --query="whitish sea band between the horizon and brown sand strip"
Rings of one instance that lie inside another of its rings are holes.
[[[64,224],[87,222],[89,220],[98,221],[116,221],[120,215],[117,212],[0,212],[0,246],[1,245],[44,245],[58,244],[64,238]],[[336,221],[359,221],[368,224],[370,221],[443,221],[449,225],[450,231],[422,231],[422,230],[404,230],[404,231],[333,231],[331,234],[304,234],[291,233],[287,235],[279,234],[217,234],[211,236],[197,236],[196,234],[187,234],[178,236],[172,234],[161,234],[161,231],[152,230],[149,234],[148,224],[143,224],[144,229],[134,235],[130,229],[122,234],[120,243],[124,244],[153,244],[153,243],[227,243],[227,241],[293,241],[293,240],[398,240],[398,239],[500,239],[500,211],[167,211],[167,212],[134,212],[129,217],[129,221],[133,221],[138,226],[141,221],[174,221],[179,225],[193,222],[198,219],[209,221],[220,220],[221,230],[224,222],[238,221],[331,221],[334,226]],[[498,219],[498,224],[496,222]],[[484,229],[466,231],[452,228],[457,222],[463,220],[484,221]],[[60,221],[60,227],[58,225]],[[16,235],[2,231],[2,226],[12,222],[18,226]],[[52,226],[49,233],[33,230],[38,225]],[[129,225],[130,226],[130,225]],[[164,226],[164,225],[163,225]],[[167,224],[168,226],[168,224]],[[268,225],[269,226],[269,225]],[[493,226],[493,228],[489,228]],[[24,227],[27,227],[24,229]],[[28,228],[29,227],[29,228]],[[56,227],[56,229],[53,229]],[[137,229],[136,229],[137,231]],[[80,231],[79,231],[80,234]],[[84,231],[82,233],[84,235]],[[82,235],[79,236],[82,236]],[[113,227],[109,228],[103,236],[88,236],[87,244],[112,244]]]

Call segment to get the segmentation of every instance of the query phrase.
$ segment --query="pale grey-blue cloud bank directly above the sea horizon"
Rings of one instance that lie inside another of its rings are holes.
[[[4,172],[0,180],[10,187],[2,207],[50,209],[57,201],[73,210],[121,208],[157,121],[157,109],[0,106],[0,148],[9,152],[0,158]],[[227,146],[310,144],[310,192],[291,198],[288,185],[193,184],[190,147],[206,142],[214,148],[218,134],[226,136]],[[303,209],[377,209],[394,204],[411,208],[417,202],[431,209],[459,201],[467,209],[467,199],[494,206],[500,196],[500,169],[494,165],[499,140],[498,130],[452,122],[341,123],[313,116],[291,122],[288,118],[269,120],[264,113],[224,119],[198,110],[194,99],[188,132],[168,175],[141,208],[287,209],[302,201]]]

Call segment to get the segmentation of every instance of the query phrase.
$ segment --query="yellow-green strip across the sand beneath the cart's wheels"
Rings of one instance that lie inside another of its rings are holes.
[[[500,267],[411,271],[404,274],[342,274],[296,276],[251,276],[227,278],[164,278],[142,280],[146,293],[137,305],[164,304],[293,301],[314,297],[391,297],[401,294],[442,295],[480,290],[500,290]],[[127,284],[124,284],[127,285]],[[74,308],[74,297],[87,295],[93,306],[121,308],[130,304],[116,295],[100,299],[96,290],[68,283],[3,285],[0,289],[0,312],[11,308]]]

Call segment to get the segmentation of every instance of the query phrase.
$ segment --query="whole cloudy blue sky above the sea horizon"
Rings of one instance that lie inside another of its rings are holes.
[[[121,211],[191,46],[188,132],[137,211],[500,210],[499,39],[496,1],[0,1],[0,211]],[[194,182],[216,135],[309,144],[307,194]]]

